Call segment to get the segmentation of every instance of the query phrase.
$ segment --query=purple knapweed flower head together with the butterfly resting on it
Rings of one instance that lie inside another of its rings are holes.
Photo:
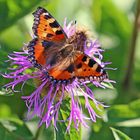
[[[55,128],[57,121],[67,122],[67,130],[73,123],[87,125],[87,120],[96,121],[97,109],[104,106],[94,98],[89,84],[105,88],[104,82],[112,82],[105,71],[107,63],[102,62],[102,52],[97,40],[89,38],[86,31],[76,27],[74,22],[60,27],[57,21],[43,8],[34,13],[33,40],[23,47],[23,52],[14,52],[8,57],[11,61],[11,73],[3,76],[12,79],[5,85],[16,92],[16,86],[32,80],[36,89],[28,96],[22,96],[28,108],[27,117],[40,118],[39,125]],[[26,48],[26,49],[25,49]],[[31,72],[27,72],[27,71]],[[79,96],[85,99],[82,106]],[[70,98],[70,112],[66,120],[59,120],[59,111],[63,100]],[[83,110],[87,109],[89,115]]]

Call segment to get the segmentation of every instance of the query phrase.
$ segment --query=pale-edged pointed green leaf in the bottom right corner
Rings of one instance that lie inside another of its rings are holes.
[[[110,129],[112,130],[115,140],[132,140],[130,137],[128,137],[126,134],[124,134],[120,130],[117,130],[112,127],[110,127]]]

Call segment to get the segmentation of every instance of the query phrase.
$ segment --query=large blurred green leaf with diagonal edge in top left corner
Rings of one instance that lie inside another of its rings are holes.
[[[25,16],[27,13],[32,11],[32,8],[39,4],[41,1],[19,1],[10,0],[0,1],[0,31],[3,31],[7,27],[13,25],[17,20]]]

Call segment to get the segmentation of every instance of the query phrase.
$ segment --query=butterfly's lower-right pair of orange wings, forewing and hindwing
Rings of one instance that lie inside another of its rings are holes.
[[[107,78],[105,70],[95,60],[85,54],[77,54],[73,62],[69,59],[69,64],[66,68],[63,68],[63,64],[51,68],[48,74],[58,81],[71,80],[75,77],[78,79],[96,79],[99,81]]]

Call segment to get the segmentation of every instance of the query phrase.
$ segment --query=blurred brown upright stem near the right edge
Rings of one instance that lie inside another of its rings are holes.
[[[130,52],[129,52],[127,70],[126,70],[126,74],[123,80],[123,88],[125,89],[130,88],[130,84],[132,80],[136,41],[137,41],[138,30],[140,26],[139,24],[140,24],[140,0],[137,0],[137,8],[136,8],[136,14],[135,14],[134,27],[132,31],[132,39],[131,39],[130,50],[129,50]]]

